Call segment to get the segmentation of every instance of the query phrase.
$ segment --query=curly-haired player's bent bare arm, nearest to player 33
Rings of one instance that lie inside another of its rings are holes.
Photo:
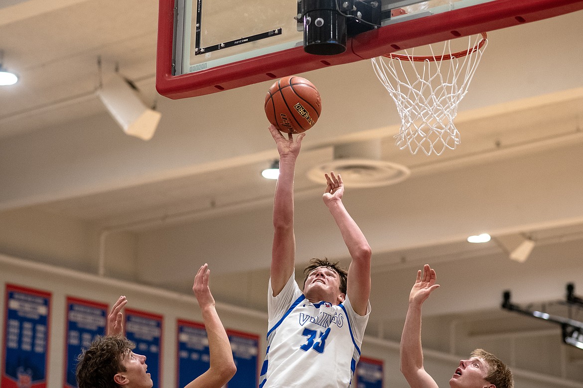
[[[227,337],[216,312],[215,298],[210,293],[209,275],[208,265],[201,266],[194,278],[192,291],[198,300],[202,320],[205,322],[206,334],[209,339],[210,367],[208,371],[188,383],[185,388],[221,388],[237,371],[229,337]]]

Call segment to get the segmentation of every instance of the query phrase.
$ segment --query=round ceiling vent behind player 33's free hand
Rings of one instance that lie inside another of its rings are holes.
[[[397,163],[370,159],[336,159],[308,171],[310,180],[326,183],[325,173],[333,171],[342,176],[346,187],[381,187],[407,179],[410,170]]]

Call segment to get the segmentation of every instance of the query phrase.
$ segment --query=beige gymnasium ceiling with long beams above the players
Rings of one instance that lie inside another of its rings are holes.
[[[368,60],[301,74],[318,87],[324,108],[297,164],[298,266],[318,255],[346,262],[323,209],[323,186],[307,172],[332,162],[335,148],[366,143],[380,147],[381,161],[410,170],[400,183],[346,188],[346,206],[374,252],[371,302],[378,314],[371,330],[395,326],[385,330],[398,339],[403,304],[425,262],[436,266],[442,284],[428,316],[469,322],[489,314],[516,319],[508,323],[512,330],[526,323],[526,330],[536,323],[500,311],[504,290],[525,304],[562,299],[568,282],[582,294],[582,24],[579,11],[491,31],[459,106],[462,143],[441,156],[395,147],[398,114]],[[271,81],[161,97],[154,86],[156,29],[153,0],[2,2],[3,65],[20,81],[0,89],[0,214],[42,214],[135,234],[142,251],[122,278],[188,292],[184,258],[196,258],[211,265],[222,302],[263,309],[275,183],[259,173],[277,157],[262,109]],[[152,140],[125,135],[96,96],[115,66],[162,113]],[[482,232],[494,239],[465,241]],[[535,241],[532,254],[524,263],[510,260],[524,238]],[[68,266],[4,245],[5,254]],[[169,245],[182,256],[157,256]],[[96,273],[96,256],[72,268]],[[104,265],[111,275],[115,264]],[[238,279],[247,283],[243,292]],[[466,298],[470,289],[481,296]]]

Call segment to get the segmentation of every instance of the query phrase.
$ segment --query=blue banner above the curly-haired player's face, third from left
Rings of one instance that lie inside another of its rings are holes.
[[[136,344],[135,353],[146,356],[154,387],[161,387],[162,316],[126,308],[125,336]]]

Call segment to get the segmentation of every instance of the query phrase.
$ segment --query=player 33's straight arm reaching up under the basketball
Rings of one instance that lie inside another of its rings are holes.
[[[270,272],[273,296],[278,296],[293,273],[296,257],[296,237],[293,232],[293,177],[301,140],[305,134],[299,134],[294,141],[291,134],[288,134],[286,138],[273,125],[269,127],[269,131],[278,145],[279,152],[279,177],[273,199],[273,246]]]

